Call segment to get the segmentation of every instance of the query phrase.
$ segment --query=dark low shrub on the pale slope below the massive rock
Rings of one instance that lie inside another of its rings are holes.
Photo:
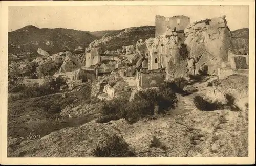
[[[210,103],[204,100],[201,96],[195,96],[194,104],[201,111],[213,111],[218,108],[216,103]]]

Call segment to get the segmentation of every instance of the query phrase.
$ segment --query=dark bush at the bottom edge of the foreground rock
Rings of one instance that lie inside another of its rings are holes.
[[[97,145],[93,150],[96,157],[133,157],[134,152],[129,150],[129,145],[117,135],[108,136],[103,145]]]

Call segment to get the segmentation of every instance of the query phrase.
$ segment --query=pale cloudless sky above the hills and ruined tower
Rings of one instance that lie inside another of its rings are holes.
[[[82,31],[155,25],[155,15],[185,15],[190,22],[226,15],[230,30],[249,28],[249,6],[11,6],[9,31],[33,25]]]

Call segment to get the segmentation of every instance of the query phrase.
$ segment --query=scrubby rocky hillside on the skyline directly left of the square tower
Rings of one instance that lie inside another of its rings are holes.
[[[155,37],[155,26],[126,28],[111,35],[106,34],[102,39],[94,40],[89,47],[101,46],[102,52],[115,51],[126,45],[134,45],[140,39]]]

